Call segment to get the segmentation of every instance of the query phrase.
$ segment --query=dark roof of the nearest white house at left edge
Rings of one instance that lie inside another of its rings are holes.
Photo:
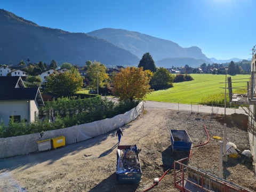
[[[44,106],[39,88],[25,87],[20,76],[1,76],[0,90],[0,101],[37,100],[39,106]]]

